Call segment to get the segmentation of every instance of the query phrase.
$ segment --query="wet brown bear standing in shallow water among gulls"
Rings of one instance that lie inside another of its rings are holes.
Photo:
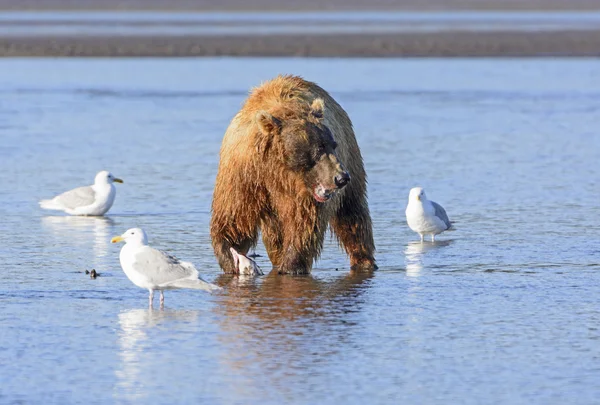
[[[221,145],[210,234],[219,265],[259,230],[274,269],[309,273],[327,226],[355,270],[376,269],[366,174],[352,122],[321,87],[278,76],[253,89]]]

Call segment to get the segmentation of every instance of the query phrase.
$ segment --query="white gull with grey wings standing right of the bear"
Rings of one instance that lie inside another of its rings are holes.
[[[444,207],[428,200],[425,190],[421,187],[410,190],[406,222],[410,229],[421,236],[421,242],[425,235],[431,235],[431,241],[435,242],[435,235],[447,231],[452,226]]]

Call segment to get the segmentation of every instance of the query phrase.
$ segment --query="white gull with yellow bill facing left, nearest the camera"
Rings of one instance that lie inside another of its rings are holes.
[[[165,303],[164,290],[191,288],[215,291],[221,287],[200,278],[192,263],[183,262],[165,252],[148,246],[146,232],[132,228],[121,236],[111,239],[112,243],[125,242],[119,260],[125,275],[131,282],[150,292],[148,301],[152,307],[154,291],[160,291],[160,306]]]

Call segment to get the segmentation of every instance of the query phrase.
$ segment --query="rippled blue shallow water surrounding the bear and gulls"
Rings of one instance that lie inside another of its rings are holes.
[[[220,141],[277,73],[353,119],[374,274],[334,242],[309,277],[220,274]],[[0,89],[1,403],[600,400],[599,61],[14,59]],[[100,169],[125,180],[108,218],[37,207]],[[415,185],[456,221],[435,244]],[[225,291],[149,311],[109,242],[133,226]]]

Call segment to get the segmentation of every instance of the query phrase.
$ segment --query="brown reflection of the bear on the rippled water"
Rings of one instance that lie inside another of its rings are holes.
[[[238,381],[245,389],[257,375],[286,386],[305,375],[298,370],[348,352],[357,332],[364,332],[357,318],[374,273],[337,274],[219,277],[225,293],[215,297],[220,305],[214,309],[222,322],[222,364],[245,380]]]

